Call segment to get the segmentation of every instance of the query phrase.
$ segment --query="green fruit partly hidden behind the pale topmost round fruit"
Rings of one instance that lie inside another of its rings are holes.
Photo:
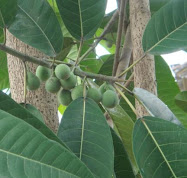
[[[63,89],[70,90],[75,87],[77,78],[73,73],[71,73],[70,77],[67,80],[60,80],[60,83]]]

